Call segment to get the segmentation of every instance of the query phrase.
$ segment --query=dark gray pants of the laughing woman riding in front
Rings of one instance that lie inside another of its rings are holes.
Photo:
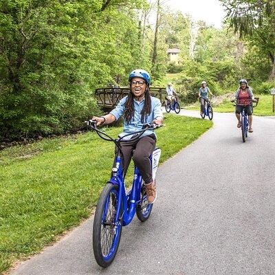
[[[131,158],[133,157],[133,162],[138,170],[140,170],[140,174],[145,184],[150,184],[152,182],[152,168],[149,157],[155,150],[155,143],[155,135],[146,135],[137,140],[137,142],[131,144],[122,143],[124,175],[126,175]]]

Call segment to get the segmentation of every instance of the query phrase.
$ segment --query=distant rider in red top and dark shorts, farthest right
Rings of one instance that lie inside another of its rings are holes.
[[[245,79],[241,79],[239,81],[240,87],[235,93],[236,99],[236,119],[238,120],[237,127],[241,127],[241,112],[245,109],[245,113],[248,115],[249,129],[250,133],[253,132],[252,129],[252,101],[254,100],[254,96],[250,87],[248,87],[248,81]]]

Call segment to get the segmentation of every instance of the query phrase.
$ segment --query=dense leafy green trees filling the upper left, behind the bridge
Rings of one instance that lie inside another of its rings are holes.
[[[135,11],[145,5],[1,1],[0,140],[76,129],[100,112],[96,87],[126,85],[131,69],[149,69]]]

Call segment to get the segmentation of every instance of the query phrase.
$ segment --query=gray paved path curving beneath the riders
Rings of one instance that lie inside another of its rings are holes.
[[[94,261],[91,218],[12,274],[275,274],[274,137],[274,119],[257,117],[243,143],[234,115],[214,113],[159,167],[151,218],[123,228],[111,267]]]

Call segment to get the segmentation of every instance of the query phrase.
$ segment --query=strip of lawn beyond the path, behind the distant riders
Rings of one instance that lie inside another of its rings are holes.
[[[259,99],[259,104],[254,108],[254,115],[275,115],[272,112],[272,96],[271,95],[255,95],[255,98]],[[199,110],[199,102],[197,104],[192,104],[186,109]],[[232,102],[228,100],[223,100],[218,106],[213,106],[214,112],[219,113],[232,113],[234,112],[235,107],[232,106]]]

